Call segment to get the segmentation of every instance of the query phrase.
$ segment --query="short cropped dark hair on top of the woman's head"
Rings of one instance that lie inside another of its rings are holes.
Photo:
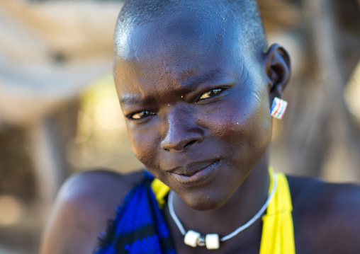
[[[244,36],[247,50],[265,52],[267,40],[256,0],[128,0],[118,16],[115,47],[127,28],[166,18],[179,10],[201,8],[213,22],[231,24]],[[215,10],[215,11],[214,11]],[[237,31],[235,31],[237,33]]]

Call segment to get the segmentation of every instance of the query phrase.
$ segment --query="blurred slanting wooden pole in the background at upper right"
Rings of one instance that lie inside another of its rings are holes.
[[[358,180],[360,168],[360,138],[354,127],[344,101],[344,79],[340,71],[337,51],[337,22],[333,12],[332,0],[305,0],[310,14],[313,47],[327,98],[328,126],[334,144],[342,144],[354,165],[352,171]]]

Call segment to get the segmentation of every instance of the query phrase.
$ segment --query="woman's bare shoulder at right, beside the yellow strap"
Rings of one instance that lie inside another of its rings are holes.
[[[359,253],[360,185],[295,177],[288,182],[294,231],[308,246],[305,253]]]

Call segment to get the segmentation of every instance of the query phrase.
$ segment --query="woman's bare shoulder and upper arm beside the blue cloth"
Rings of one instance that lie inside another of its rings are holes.
[[[73,175],[59,192],[40,253],[91,253],[108,219],[115,216],[116,207],[142,179],[142,171],[123,175],[89,171]]]

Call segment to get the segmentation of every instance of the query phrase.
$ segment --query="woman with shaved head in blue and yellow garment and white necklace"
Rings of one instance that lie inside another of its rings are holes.
[[[114,76],[153,176],[75,175],[42,253],[359,253],[359,186],[269,171],[290,72],[254,0],[127,1]]]

